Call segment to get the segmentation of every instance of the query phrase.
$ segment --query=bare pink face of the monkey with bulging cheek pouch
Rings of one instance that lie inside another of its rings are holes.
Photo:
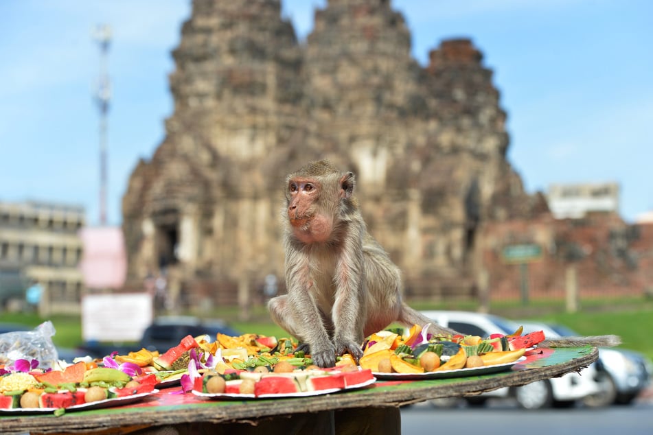
[[[304,243],[326,242],[332,222],[319,213],[321,185],[308,178],[293,178],[288,182],[288,220],[293,233]]]

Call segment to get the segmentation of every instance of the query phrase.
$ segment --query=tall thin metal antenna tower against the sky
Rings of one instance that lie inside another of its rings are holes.
[[[93,39],[100,45],[100,78],[95,90],[95,102],[100,109],[100,225],[106,225],[106,118],[111,100],[111,82],[108,78],[107,58],[111,43],[111,27],[98,25],[93,31]]]

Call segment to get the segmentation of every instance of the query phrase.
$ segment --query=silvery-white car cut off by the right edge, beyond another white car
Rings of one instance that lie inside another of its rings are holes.
[[[525,332],[542,330],[547,337],[578,336],[562,325],[537,322],[520,322],[520,324],[523,325]],[[595,381],[601,386],[601,391],[583,399],[588,406],[606,406],[612,403],[628,405],[651,382],[651,362],[639,352],[614,347],[600,348],[596,366]]]

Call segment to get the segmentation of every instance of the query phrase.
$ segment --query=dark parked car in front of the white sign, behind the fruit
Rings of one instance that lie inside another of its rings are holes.
[[[150,351],[167,351],[179,344],[185,336],[207,336],[207,341],[216,340],[218,333],[227,336],[240,336],[240,333],[229,327],[222,320],[202,320],[194,316],[161,316],[155,318],[152,324],[143,332],[137,343],[85,343],[80,348],[82,355],[102,358],[112,352],[119,354],[138,351],[146,348]]]

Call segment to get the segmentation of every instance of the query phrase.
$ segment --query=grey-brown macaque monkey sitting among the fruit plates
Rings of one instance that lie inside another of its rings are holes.
[[[363,355],[365,337],[393,322],[431,320],[402,301],[399,268],[367,233],[352,172],[328,161],[286,177],[284,248],[288,294],[268,303],[273,320],[310,351],[317,366]],[[431,333],[451,329],[433,324]]]

